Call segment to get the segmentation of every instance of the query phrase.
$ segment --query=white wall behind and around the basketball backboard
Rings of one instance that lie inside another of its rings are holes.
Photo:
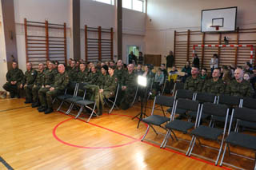
[[[255,0],[147,0],[146,53],[166,55],[174,48],[174,30],[200,30],[202,10],[231,6],[238,6],[237,26],[256,26]]]

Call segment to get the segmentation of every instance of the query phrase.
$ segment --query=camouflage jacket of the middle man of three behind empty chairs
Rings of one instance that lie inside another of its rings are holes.
[[[203,85],[202,92],[205,93],[213,93],[215,95],[220,95],[225,92],[225,85],[222,79],[218,79],[218,81],[214,81],[212,78],[206,80]]]

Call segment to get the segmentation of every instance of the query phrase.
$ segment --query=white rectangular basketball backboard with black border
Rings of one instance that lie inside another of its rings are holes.
[[[202,32],[230,32],[236,30],[237,7],[202,10]]]

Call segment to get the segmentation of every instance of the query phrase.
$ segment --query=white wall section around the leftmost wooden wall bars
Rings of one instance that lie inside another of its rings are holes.
[[[26,48],[24,34],[24,18],[32,22],[45,22],[63,24],[70,27],[71,20],[70,0],[14,0],[14,12],[17,34],[17,49],[19,67],[26,70]],[[42,34],[43,30],[33,30]],[[69,32],[68,32],[69,33]],[[67,34],[67,56],[73,55],[70,51],[70,34]]]

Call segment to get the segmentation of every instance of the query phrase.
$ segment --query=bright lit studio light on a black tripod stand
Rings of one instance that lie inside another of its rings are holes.
[[[142,121],[143,116],[147,117],[146,113],[143,112],[143,102],[145,101],[146,98],[146,92],[147,92],[147,80],[146,77],[144,76],[138,76],[138,85],[142,87],[142,95],[141,95],[141,112],[138,113],[134,118],[138,118],[138,125],[137,128],[139,127],[140,122]]]

